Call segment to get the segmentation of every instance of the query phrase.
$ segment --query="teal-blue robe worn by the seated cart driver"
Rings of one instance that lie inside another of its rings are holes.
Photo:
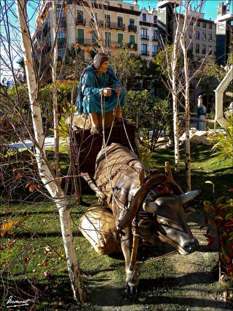
[[[116,74],[112,67],[109,66],[106,73],[99,76],[93,64],[89,65],[82,73],[79,81],[78,96],[75,109],[82,113],[102,113],[101,110],[101,89],[111,87],[116,90],[120,85],[122,93],[119,95],[120,105],[126,104],[126,89],[117,80]],[[105,96],[104,112],[108,113],[117,106],[117,92],[112,90],[111,96]],[[103,100],[103,97],[102,97]],[[118,104],[119,105],[119,104]]]

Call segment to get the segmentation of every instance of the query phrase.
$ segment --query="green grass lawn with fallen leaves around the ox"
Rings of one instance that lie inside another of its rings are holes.
[[[26,188],[19,189],[14,194],[13,200],[6,205],[3,204],[1,208],[2,220],[18,221],[24,228],[13,228],[14,234],[5,234],[1,237],[1,268],[4,269],[2,281],[5,285],[3,288],[1,284],[2,310],[10,309],[6,303],[12,294],[21,297],[15,300],[37,301],[34,305],[37,308],[35,310],[223,310],[214,300],[224,290],[224,285],[217,282],[217,273],[212,271],[217,263],[217,248],[213,245],[207,250],[207,242],[203,237],[205,231],[201,232],[199,226],[204,224],[202,201],[204,199],[212,201],[212,185],[205,184],[205,181],[210,180],[215,184],[216,197],[231,196],[232,192],[228,190],[232,188],[232,163],[231,160],[223,160],[211,164],[211,146],[190,147],[192,190],[200,189],[201,195],[190,204],[197,211],[192,214],[193,216],[188,216],[188,221],[191,230],[195,230],[198,235],[196,237],[201,242],[201,248],[200,252],[194,253],[197,257],[191,254],[166,259],[165,287],[160,277],[162,262],[157,261],[141,269],[139,298],[145,297],[146,300],[140,302],[138,297],[131,298],[127,295],[124,290],[126,275],[123,255],[98,255],[79,231],[78,224],[82,211],[97,203],[94,192],[85,181],[82,181],[82,200],[80,206],[72,210],[72,229],[73,242],[89,299],[85,305],[76,305],[72,299],[66,262],[37,236],[31,238],[31,232],[39,230],[40,237],[56,248],[59,254],[64,254],[56,207],[50,202],[44,202],[42,197],[38,197],[38,193],[30,194]],[[60,156],[62,170],[65,172],[68,166],[65,149],[61,150]],[[165,161],[169,161],[174,171],[173,150],[156,149],[152,161],[162,173],[165,172]],[[185,192],[184,147],[180,150],[180,173],[173,173],[173,178]],[[19,197],[24,198],[25,202],[32,203],[20,204],[17,201]],[[169,247],[167,251],[170,251]],[[161,247],[156,239],[154,247],[139,249],[137,260],[147,260],[159,255]],[[45,259],[47,259],[45,265],[39,266]],[[12,261],[14,264],[7,269],[7,264]],[[49,276],[46,276],[48,273]],[[21,308],[29,310],[31,307],[32,305]]]

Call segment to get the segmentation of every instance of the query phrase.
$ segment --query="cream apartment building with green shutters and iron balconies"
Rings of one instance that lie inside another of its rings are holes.
[[[53,45],[53,14],[50,10],[51,1],[43,0],[37,15],[37,27],[33,36],[34,49],[41,58],[42,66],[46,64],[49,50]],[[58,34],[58,55],[63,57],[66,46],[78,44],[81,47],[83,61],[88,62],[89,55],[84,50],[94,47],[100,51],[103,44],[106,53],[114,53],[124,40],[124,47],[130,48],[130,55],[138,54],[139,5],[137,1],[125,3],[122,0],[91,1],[93,13],[88,2],[69,1],[63,8],[61,29]],[[61,1],[57,1],[57,20]],[[96,23],[98,31],[96,31]],[[101,39],[99,39],[101,38]],[[100,43],[101,41],[101,43]],[[42,48],[42,50],[41,50]]]

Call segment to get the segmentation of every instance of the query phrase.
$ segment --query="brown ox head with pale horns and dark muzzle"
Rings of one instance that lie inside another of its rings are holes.
[[[199,249],[198,240],[194,238],[186,222],[186,215],[195,212],[195,209],[182,206],[199,193],[200,190],[195,190],[179,196],[166,195],[154,202],[143,203],[144,211],[155,215],[157,220],[155,233],[162,242],[175,246],[182,255],[188,255]]]

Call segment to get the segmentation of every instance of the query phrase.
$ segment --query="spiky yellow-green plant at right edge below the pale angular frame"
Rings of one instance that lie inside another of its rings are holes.
[[[216,156],[211,163],[219,161],[225,157],[232,159],[232,121],[232,112],[228,111],[228,114],[226,115],[226,124],[224,126],[225,132],[214,132],[211,130],[215,135],[217,135],[210,141],[210,144],[214,145],[211,150],[212,156]]]

